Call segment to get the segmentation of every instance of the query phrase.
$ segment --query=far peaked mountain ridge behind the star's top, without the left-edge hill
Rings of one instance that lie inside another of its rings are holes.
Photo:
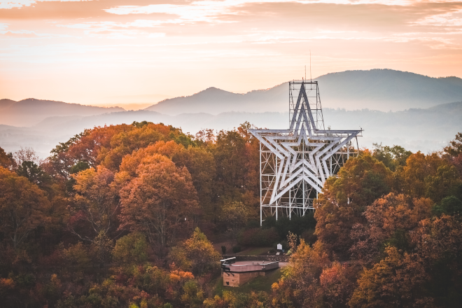
[[[432,78],[391,69],[342,71],[316,79],[324,108],[402,111],[462,100],[462,79]],[[218,114],[288,111],[288,83],[246,94],[209,87],[188,97],[165,99],[146,110],[176,116],[180,113]]]

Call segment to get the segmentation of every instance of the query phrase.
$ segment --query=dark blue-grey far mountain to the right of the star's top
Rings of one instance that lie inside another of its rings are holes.
[[[321,102],[333,108],[397,111],[462,100],[462,79],[457,77],[431,78],[371,69],[328,73],[316,80],[321,87]]]

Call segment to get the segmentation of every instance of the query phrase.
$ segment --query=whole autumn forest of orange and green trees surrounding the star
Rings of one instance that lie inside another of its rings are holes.
[[[0,148],[1,306],[459,307],[462,133],[435,153],[362,149],[314,213],[260,227],[249,128],[94,127],[45,160]],[[267,290],[217,290],[223,240],[282,243],[288,265]]]

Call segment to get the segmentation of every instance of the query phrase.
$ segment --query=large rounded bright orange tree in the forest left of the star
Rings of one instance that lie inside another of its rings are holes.
[[[121,228],[144,232],[160,246],[173,244],[188,232],[197,211],[197,193],[190,173],[172,160],[155,154],[141,161],[137,177],[120,191]]]

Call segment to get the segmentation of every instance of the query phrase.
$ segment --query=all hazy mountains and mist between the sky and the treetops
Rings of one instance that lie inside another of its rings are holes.
[[[364,129],[360,146],[398,144],[411,151],[440,150],[462,132],[462,79],[373,69],[316,78],[325,127]],[[388,112],[392,110],[393,112]],[[141,111],[66,104],[40,99],[0,100],[0,146],[34,148],[42,157],[85,128],[148,120],[183,132],[288,127],[288,84],[237,94],[210,87],[189,97],[166,99]],[[13,126],[14,125],[14,126]]]

